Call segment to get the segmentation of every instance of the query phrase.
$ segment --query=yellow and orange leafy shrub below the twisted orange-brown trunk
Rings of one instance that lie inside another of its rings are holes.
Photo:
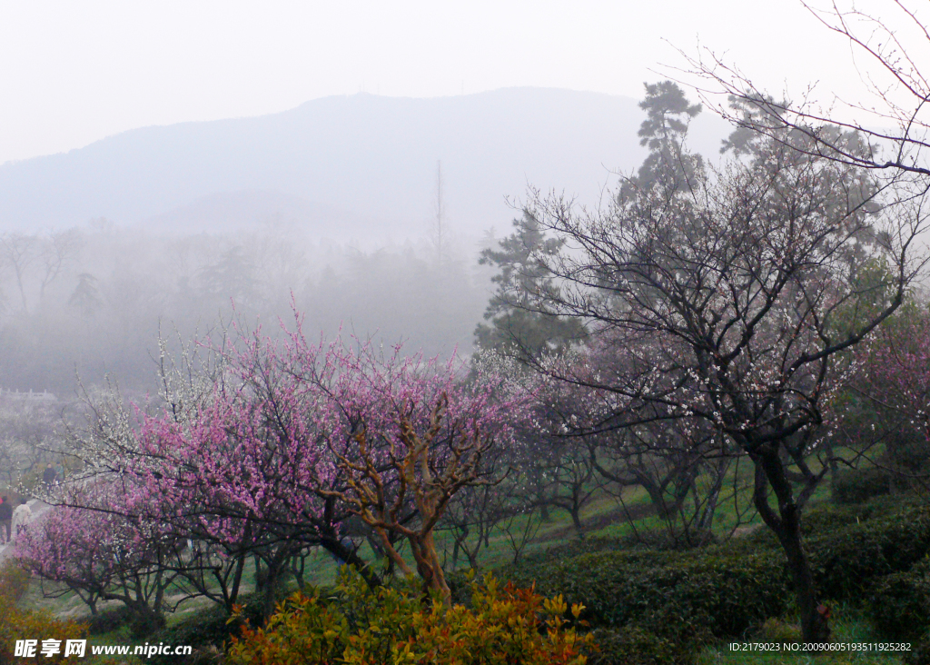
[[[578,618],[583,608],[574,605]],[[580,636],[561,596],[472,584],[472,607],[424,604],[415,588],[370,590],[346,573],[336,594],[292,596],[264,629],[233,639],[230,662],[289,665],[584,665]]]

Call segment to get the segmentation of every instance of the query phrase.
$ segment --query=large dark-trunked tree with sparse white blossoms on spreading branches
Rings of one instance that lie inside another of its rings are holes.
[[[557,287],[515,293],[512,306],[591,329],[577,357],[528,359],[597,402],[582,406],[595,418],[580,431],[677,421],[719,433],[705,456],[732,446],[751,459],[755,508],[788,559],[804,641],[821,642],[829,627],[801,514],[829,470],[841,355],[903,302],[926,261],[914,245],[927,212],[910,189],[818,157],[790,127],[747,153],[684,190],[661,178],[632,187],[606,213],[537,197],[527,213],[565,241],[536,257]],[[875,261],[887,266],[878,284],[861,278]]]

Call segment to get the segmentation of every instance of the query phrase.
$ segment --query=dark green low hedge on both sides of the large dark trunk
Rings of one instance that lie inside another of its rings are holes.
[[[870,598],[864,610],[889,636],[930,627],[930,510],[828,507],[805,524],[822,597]],[[701,550],[591,552],[509,566],[500,575],[586,605],[584,618],[601,629],[604,653],[591,660],[598,663],[688,662],[697,645],[744,636],[790,602],[784,554],[764,528]]]

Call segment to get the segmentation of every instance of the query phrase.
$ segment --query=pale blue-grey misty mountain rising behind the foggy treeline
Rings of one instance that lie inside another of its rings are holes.
[[[151,126],[0,166],[0,230],[105,217],[158,233],[298,222],[330,237],[419,234],[442,162],[452,230],[505,231],[528,185],[596,203],[640,164],[636,100],[507,88],[426,100],[369,94],[254,118]],[[714,154],[723,121],[698,116],[691,143]]]

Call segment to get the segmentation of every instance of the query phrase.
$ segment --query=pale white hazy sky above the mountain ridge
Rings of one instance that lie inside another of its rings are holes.
[[[0,12],[0,164],[360,90],[639,98],[662,77],[650,70],[684,66],[669,43],[696,53],[698,38],[769,89],[819,80],[824,97],[860,95],[848,46],[797,0],[0,0]]]

